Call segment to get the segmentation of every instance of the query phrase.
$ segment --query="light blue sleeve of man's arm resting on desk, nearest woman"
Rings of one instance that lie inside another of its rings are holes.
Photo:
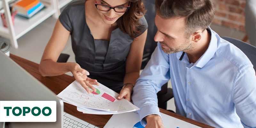
[[[141,124],[146,125],[145,116],[156,114],[160,115],[157,95],[161,90],[161,86],[170,79],[169,57],[158,46],[152,53],[151,59],[147,66],[143,69],[139,79],[133,88],[132,101],[140,110]]]

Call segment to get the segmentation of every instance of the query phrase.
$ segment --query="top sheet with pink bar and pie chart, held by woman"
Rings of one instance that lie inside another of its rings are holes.
[[[57,97],[68,101],[77,107],[93,108],[104,111],[117,111],[121,102],[116,97],[118,93],[100,84],[93,85],[97,91],[88,94],[76,80],[60,92]],[[107,97],[107,98],[106,98]]]

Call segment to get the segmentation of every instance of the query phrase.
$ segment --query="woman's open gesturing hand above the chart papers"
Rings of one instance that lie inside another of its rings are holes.
[[[69,70],[74,75],[76,81],[78,81],[88,93],[91,93],[91,90],[88,87],[90,87],[94,92],[96,92],[96,88],[92,85],[99,85],[97,80],[87,77],[88,75],[90,75],[89,72],[81,68],[79,64],[75,62],[69,63]]]

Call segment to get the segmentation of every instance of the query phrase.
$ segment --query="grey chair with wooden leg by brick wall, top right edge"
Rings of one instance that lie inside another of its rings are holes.
[[[245,4],[246,36],[253,46],[256,46],[256,0],[246,0]],[[246,42],[247,39],[243,39]]]

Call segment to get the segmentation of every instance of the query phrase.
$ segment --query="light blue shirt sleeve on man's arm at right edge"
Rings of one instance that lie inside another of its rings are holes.
[[[252,64],[240,68],[234,85],[236,113],[245,128],[256,128],[256,76]]]

